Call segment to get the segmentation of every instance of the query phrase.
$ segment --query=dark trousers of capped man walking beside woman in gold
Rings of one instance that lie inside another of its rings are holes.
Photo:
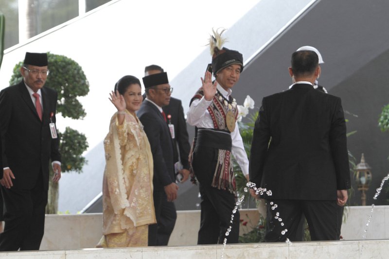
[[[148,245],[167,245],[177,220],[176,206],[164,191],[154,190],[153,198],[157,224],[149,225]]]

